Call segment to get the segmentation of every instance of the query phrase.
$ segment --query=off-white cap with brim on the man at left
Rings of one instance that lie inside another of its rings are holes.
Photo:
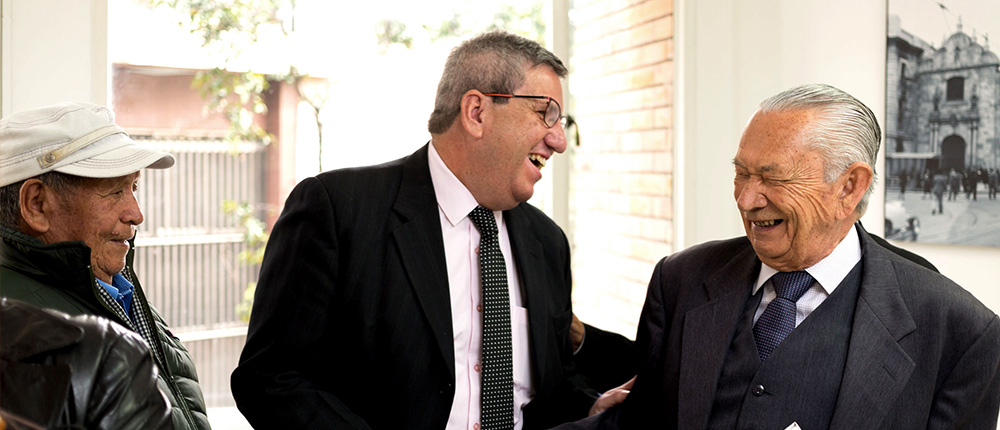
[[[51,171],[115,178],[173,165],[173,155],[132,140],[104,106],[65,102],[0,119],[0,186]]]

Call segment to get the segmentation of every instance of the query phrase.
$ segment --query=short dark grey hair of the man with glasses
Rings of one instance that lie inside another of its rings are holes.
[[[427,130],[432,134],[447,131],[462,110],[462,95],[467,91],[510,94],[524,85],[525,72],[538,65],[549,66],[560,78],[566,77],[562,61],[533,40],[491,31],[463,42],[445,62]],[[507,101],[496,99],[501,104]]]

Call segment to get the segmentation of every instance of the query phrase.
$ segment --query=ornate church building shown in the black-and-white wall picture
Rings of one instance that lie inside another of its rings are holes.
[[[957,30],[935,47],[890,17],[886,177],[1000,168],[1000,58],[987,36]]]

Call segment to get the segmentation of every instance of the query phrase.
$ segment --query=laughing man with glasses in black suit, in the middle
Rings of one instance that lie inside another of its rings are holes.
[[[448,58],[429,144],[296,186],[232,376],[254,427],[487,428],[477,206],[496,221],[509,285],[513,401],[499,428],[587,415],[597,396],[572,364],[568,242],[524,203],[566,149],[565,75],[535,42],[477,36]]]

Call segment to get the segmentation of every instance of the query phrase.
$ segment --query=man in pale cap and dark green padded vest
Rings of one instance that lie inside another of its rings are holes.
[[[137,332],[159,370],[174,427],[209,428],[194,363],[132,271],[143,221],[139,171],[172,155],[140,147],[105,107],[61,103],[0,120],[0,296]]]

